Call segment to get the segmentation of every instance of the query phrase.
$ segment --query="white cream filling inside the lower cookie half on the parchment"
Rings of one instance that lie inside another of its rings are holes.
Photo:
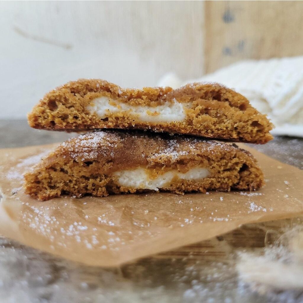
[[[156,178],[151,178],[146,169],[136,168],[116,171],[113,175],[118,177],[118,185],[120,186],[158,191],[159,188],[170,185],[174,177],[184,180],[201,180],[209,176],[209,171],[207,168],[196,167],[183,174],[174,169],[158,175]]]

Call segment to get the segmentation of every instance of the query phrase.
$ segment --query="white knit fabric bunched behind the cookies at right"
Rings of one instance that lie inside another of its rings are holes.
[[[303,137],[303,56],[241,61],[185,82],[170,74],[159,85],[177,88],[192,82],[218,82],[233,88],[268,115],[275,125],[272,134]]]

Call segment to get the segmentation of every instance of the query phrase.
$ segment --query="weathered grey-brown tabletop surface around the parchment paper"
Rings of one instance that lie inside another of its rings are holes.
[[[62,142],[74,135],[31,129],[25,120],[0,120],[0,129],[1,148]],[[254,147],[303,169],[301,138],[276,137],[268,144]],[[285,222],[283,228],[288,224]],[[265,237],[281,232],[281,223],[277,221],[247,225],[175,250],[175,258],[171,258],[173,252],[169,256],[163,253],[112,269],[66,261],[0,238],[0,301],[228,303],[286,302],[292,298],[291,302],[300,302],[300,294],[283,297],[272,293],[268,297],[254,292],[238,281],[235,271],[239,250],[262,251]],[[241,245],[233,240],[239,234],[245,238]],[[193,256],[193,250],[199,254]],[[209,250],[220,251],[220,257],[210,257]]]

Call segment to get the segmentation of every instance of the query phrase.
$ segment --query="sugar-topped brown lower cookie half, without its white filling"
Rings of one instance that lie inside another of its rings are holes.
[[[247,190],[263,184],[253,156],[236,145],[188,136],[146,132],[89,132],[62,143],[25,174],[25,192],[40,200],[60,195],[106,196],[148,191],[120,186],[115,171],[147,168],[155,172],[186,172],[202,167],[210,175],[201,180],[174,180],[161,191]]]

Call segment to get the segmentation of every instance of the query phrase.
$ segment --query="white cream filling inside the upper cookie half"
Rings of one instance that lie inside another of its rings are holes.
[[[87,107],[92,114],[98,115],[104,119],[113,113],[128,112],[136,120],[142,122],[175,122],[185,120],[185,107],[175,99],[173,102],[167,102],[165,105],[146,106],[146,105],[130,105],[125,102],[113,100],[108,97],[100,97],[93,100],[91,105]]]

